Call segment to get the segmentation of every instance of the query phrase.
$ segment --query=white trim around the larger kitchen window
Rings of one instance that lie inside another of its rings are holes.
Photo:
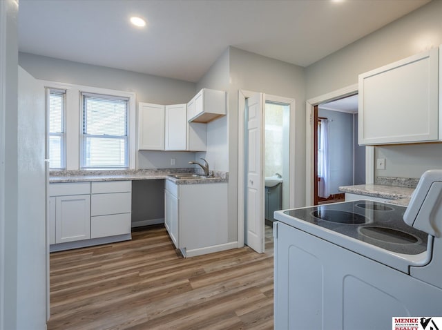
[[[128,169],[135,169],[136,164],[136,95],[133,92],[112,90],[92,86],[60,83],[57,81],[41,80],[42,84],[50,88],[66,90],[66,170],[79,170],[80,168],[80,137],[81,137],[81,94],[92,93],[100,95],[113,95],[128,98]],[[122,168],[120,168],[122,169]]]

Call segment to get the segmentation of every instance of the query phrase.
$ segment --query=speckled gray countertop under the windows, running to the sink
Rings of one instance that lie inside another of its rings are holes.
[[[214,172],[215,177],[204,179],[175,179],[170,177],[176,173],[198,173],[193,168],[164,168],[140,170],[96,170],[96,171],[50,171],[50,183],[66,182],[95,182],[95,181],[123,181],[123,180],[150,180],[169,179],[175,184],[210,184],[228,182],[229,173]],[[201,173],[200,173],[201,174]]]

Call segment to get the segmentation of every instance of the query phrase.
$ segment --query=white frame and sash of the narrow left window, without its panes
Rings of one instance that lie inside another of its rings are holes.
[[[50,86],[45,86],[45,92],[46,92],[46,113],[47,113],[47,122],[46,122],[46,155],[48,157],[50,157],[49,154],[49,138],[50,136],[61,136],[63,139],[63,144],[62,144],[62,148],[61,148],[61,155],[60,155],[60,160],[61,160],[61,167],[50,167],[50,171],[63,171],[66,170],[66,105],[67,105],[67,90],[65,88],[53,88]],[[63,113],[61,114],[61,124],[63,125],[63,132],[62,133],[50,133],[50,93],[52,92],[59,92],[64,94],[64,99],[63,99]]]

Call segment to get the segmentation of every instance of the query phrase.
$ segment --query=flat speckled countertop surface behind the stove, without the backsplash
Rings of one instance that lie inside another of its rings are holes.
[[[340,186],[343,193],[372,196],[391,200],[392,204],[407,206],[414,188],[404,186],[387,186],[383,184],[360,184],[356,186]]]

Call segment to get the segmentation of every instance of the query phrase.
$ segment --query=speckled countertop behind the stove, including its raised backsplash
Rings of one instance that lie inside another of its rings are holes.
[[[404,177],[376,177],[375,184],[360,184],[357,186],[340,186],[343,193],[385,198],[392,204],[408,206],[412,193],[419,179]]]

